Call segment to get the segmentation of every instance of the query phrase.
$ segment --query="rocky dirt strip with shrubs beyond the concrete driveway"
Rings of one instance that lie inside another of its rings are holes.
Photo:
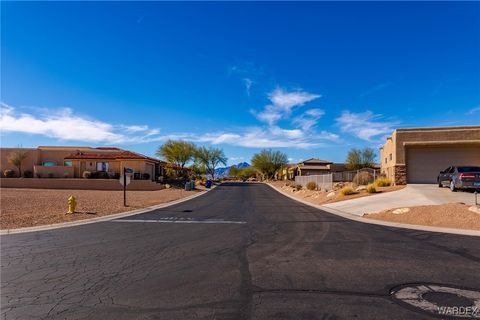
[[[328,194],[330,194],[331,192],[311,191],[311,190],[306,190],[306,189],[296,191],[294,188],[288,186],[285,183],[285,181],[270,181],[268,183],[270,185],[272,185],[273,187],[279,189],[279,190],[282,190],[284,192],[287,192],[287,193],[293,195],[296,198],[311,202],[313,204],[318,204],[318,205],[333,203],[333,202],[338,202],[338,201],[344,201],[344,200],[350,200],[350,199],[355,199],[355,198],[361,198],[361,197],[374,196],[376,194],[381,194],[381,193],[391,192],[391,191],[397,191],[397,190],[405,188],[405,186],[379,187],[379,188],[377,188],[377,193],[368,193],[365,190],[360,190],[360,191],[355,192],[354,194],[345,195],[345,196],[340,194],[340,190],[333,190],[333,192],[335,194],[328,197]]]

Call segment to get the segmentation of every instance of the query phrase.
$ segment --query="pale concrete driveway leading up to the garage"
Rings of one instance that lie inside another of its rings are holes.
[[[324,207],[362,216],[365,213],[379,212],[385,209],[452,202],[473,205],[475,204],[475,195],[468,191],[451,192],[450,189],[439,188],[436,184],[409,184],[399,191],[335,202]]]

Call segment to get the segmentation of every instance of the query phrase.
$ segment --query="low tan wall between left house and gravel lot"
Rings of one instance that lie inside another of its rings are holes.
[[[76,189],[76,190],[123,190],[117,179],[55,179],[55,178],[0,178],[2,188],[31,189]],[[132,180],[130,191],[153,191],[165,189],[160,183],[150,180]]]

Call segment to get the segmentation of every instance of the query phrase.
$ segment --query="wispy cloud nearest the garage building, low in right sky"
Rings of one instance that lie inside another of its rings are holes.
[[[354,113],[343,111],[336,119],[337,125],[342,132],[350,133],[362,140],[372,141],[379,136],[390,134],[398,122],[384,120],[380,114],[371,111]]]

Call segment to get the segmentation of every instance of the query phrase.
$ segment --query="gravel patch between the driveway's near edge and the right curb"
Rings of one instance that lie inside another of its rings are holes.
[[[393,210],[364,215],[365,218],[425,226],[480,230],[480,214],[469,211],[463,203],[418,206],[410,211],[394,214]]]

